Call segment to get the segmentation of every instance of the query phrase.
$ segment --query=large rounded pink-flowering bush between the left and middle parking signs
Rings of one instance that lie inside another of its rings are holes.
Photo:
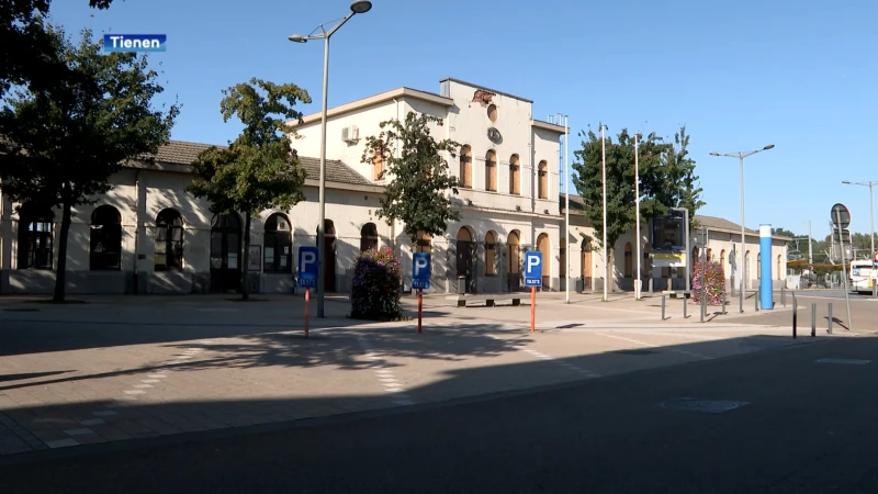
[[[351,317],[395,319],[401,316],[399,260],[389,247],[369,249],[357,259],[351,287]]]

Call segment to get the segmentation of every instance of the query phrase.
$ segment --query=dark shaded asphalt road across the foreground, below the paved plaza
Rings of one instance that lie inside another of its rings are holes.
[[[405,413],[80,447],[0,462],[0,492],[875,493],[878,362],[814,361],[876,355],[876,338],[825,339]],[[686,396],[748,404],[662,406]]]

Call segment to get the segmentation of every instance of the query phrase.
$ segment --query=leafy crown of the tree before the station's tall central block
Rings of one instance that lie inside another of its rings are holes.
[[[381,160],[384,175],[392,177],[386,197],[381,199],[379,217],[387,224],[402,220],[405,233],[416,242],[418,231],[430,235],[442,235],[449,221],[459,221],[460,211],[452,209],[447,190],[458,193],[460,183],[448,175],[448,161],[441,153],[455,156],[460,144],[450,141],[436,141],[430,135],[429,125],[442,125],[442,119],[408,112],[405,122],[389,120],[381,122],[381,133],[365,139],[362,162],[375,164]],[[394,149],[401,147],[397,158]]]

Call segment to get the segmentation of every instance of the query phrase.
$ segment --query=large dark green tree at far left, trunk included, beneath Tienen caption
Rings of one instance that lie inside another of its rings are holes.
[[[76,77],[44,90],[20,90],[0,111],[0,179],[21,203],[60,207],[56,302],[65,296],[71,209],[94,204],[110,177],[130,159],[151,160],[170,138],[179,113],[154,109],[164,91],[145,55],[101,53],[91,31],[74,45],[47,25],[53,53]]]

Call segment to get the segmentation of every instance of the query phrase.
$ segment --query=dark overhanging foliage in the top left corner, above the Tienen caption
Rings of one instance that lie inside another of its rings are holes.
[[[89,5],[106,9],[113,0],[89,0]],[[45,90],[63,85],[76,71],[55,49],[53,33],[46,29],[50,0],[7,0],[0,2],[0,98],[13,85]],[[85,3],[85,1],[83,1]]]

